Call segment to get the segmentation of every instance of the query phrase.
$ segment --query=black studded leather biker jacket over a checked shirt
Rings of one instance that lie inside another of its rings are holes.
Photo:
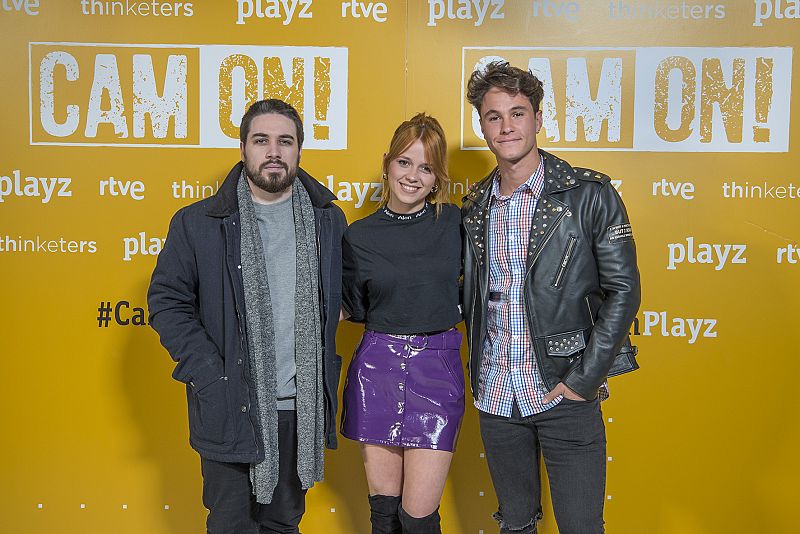
[[[540,150],[544,190],[531,223],[523,299],[548,389],[585,399],[606,377],[638,368],[629,329],[640,303],[639,270],[625,206],[608,176]],[[463,307],[470,385],[478,390],[489,287],[489,203],[497,169],[464,197]]]

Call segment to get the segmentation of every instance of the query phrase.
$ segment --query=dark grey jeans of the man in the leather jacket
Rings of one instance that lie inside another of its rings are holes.
[[[541,519],[539,454],[544,457],[561,534],[601,534],[606,433],[600,401],[562,400],[522,417],[479,412],[481,437],[499,510],[501,534],[533,534]]]

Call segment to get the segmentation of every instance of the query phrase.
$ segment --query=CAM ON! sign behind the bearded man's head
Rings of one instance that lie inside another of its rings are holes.
[[[238,147],[247,107],[280,98],[303,148],[347,148],[346,48],[30,43],[29,58],[32,145]]]

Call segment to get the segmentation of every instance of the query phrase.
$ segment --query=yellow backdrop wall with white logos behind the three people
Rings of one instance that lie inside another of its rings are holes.
[[[145,292],[248,102],[302,109],[302,165],[351,221],[396,125],[432,113],[460,202],[492,167],[463,86],[493,58],[548,82],[540,144],[611,175],[633,222],[642,368],[603,406],[608,531],[796,531],[797,0],[3,0],[0,35],[4,532],[203,531]],[[326,466],[303,530],[368,532],[357,447]],[[468,409],[444,530],[495,532],[495,507]]]

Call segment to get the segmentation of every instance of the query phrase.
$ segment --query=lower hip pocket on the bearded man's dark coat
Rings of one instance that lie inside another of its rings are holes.
[[[228,377],[221,376],[197,391],[189,388],[189,428],[192,438],[224,444],[231,440]]]

